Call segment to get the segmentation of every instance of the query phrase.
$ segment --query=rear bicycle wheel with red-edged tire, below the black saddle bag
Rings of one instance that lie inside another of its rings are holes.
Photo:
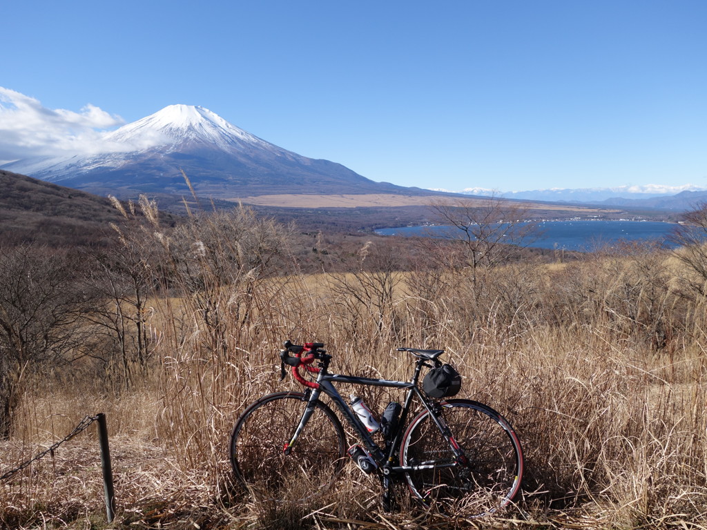
[[[452,464],[450,443],[430,417],[420,413],[410,423],[400,447],[403,466],[435,462],[431,469],[405,473],[411,494],[440,512],[481,517],[506,507],[520,490],[523,454],[508,420],[493,408],[468,399],[441,404],[441,414],[467,464]]]

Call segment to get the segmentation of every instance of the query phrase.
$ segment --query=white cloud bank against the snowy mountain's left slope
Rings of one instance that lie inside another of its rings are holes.
[[[95,105],[79,112],[42,107],[39,100],[0,87],[0,160],[117,151],[103,133],[124,123]]]

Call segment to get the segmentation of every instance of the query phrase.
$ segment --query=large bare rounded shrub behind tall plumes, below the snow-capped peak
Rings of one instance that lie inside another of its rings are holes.
[[[168,255],[168,287],[186,295],[197,311],[208,330],[204,346],[223,352],[227,329],[245,333],[257,321],[264,279],[294,270],[288,237],[288,228],[244,206],[191,216],[160,237]]]

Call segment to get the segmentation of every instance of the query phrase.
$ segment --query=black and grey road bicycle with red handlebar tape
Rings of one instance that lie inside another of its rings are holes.
[[[518,435],[491,407],[449,399],[459,384],[428,389],[432,375],[448,370],[439,360],[443,350],[397,348],[415,358],[414,374],[404,382],[330,373],[332,355],[323,348],[323,343],[296,346],[287,341],[280,351],[281,379],[287,365],[305,391],[268,394],[235,422],[230,463],[235,478],[257,500],[317,495],[353,460],[364,473],[379,476],[385,510],[392,509],[397,483],[407,485],[424,505],[464,517],[491,514],[513,501],[523,473]],[[430,370],[421,389],[423,367]],[[366,410],[360,416],[358,404],[356,409],[349,406],[337,384],[389,387],[407,394],[402,406],[391,402],[378,423]],[[351,447],[341,420],[321,401],[322,394],[329,396],[358,438]],[[378,432],[376,425],[382,425]]]

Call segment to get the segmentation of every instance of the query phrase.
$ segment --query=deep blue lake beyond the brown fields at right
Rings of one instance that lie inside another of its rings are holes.
[[[542,221],[537,223],[542,236],[530,245],[544,249],[565,249],[588,252],[604,245],[612,245],[619,240],[655,241],[671,247],[667,237],[676,225],[656,221],[631,220],[565,220]],[[406,226],[402,228],[381,228],[379,235],[424,235],[442,236],[454,234],[450,226]],[[458,231],[458,230],[457,230]]]

